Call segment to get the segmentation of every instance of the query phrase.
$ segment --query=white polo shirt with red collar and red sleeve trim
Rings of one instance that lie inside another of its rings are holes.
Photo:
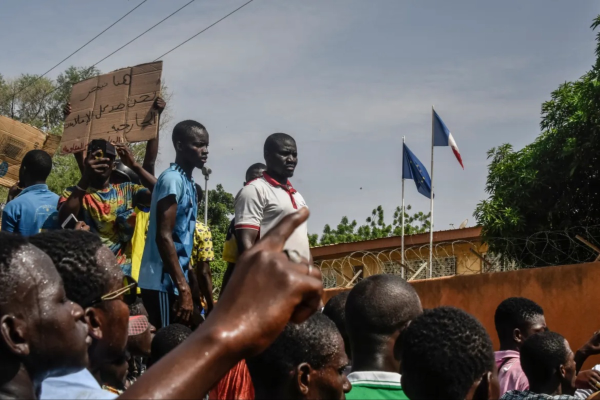
[[[262,236],[277,225],[281,218],[301,207],[307,207],[306,202],[289,181],[287,187],[284,187],[265,172],[261,178],[248,182],[235,197],[235,228],[255,229]],[[284,249],[296,250],[302,257],[310,260],[306,222],[287,239]]]

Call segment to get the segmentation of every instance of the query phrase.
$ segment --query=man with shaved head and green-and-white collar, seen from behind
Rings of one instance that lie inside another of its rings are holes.
[[[352,288],[346,300],[352,347],[347,399],[408,399],[400,384],[400,336],[422,312],[415,289],[400,276],[371,275]]]

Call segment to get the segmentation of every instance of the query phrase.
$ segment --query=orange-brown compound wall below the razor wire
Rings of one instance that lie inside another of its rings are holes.
[[[507,297],[522,296],[544,308],[548,327],[559,332],[575,351],[600,329],[600,263],[478,273],[412,281],[424,308],[451,305],[484,324],[499,344],[494,328],[496,306]],[[349,289],[326,290],[323,302]],[[586,368],[600,363],[591,357]]]

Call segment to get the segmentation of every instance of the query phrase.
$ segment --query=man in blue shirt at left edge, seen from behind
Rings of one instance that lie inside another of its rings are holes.
[[[46,185],[51,170],[52,157],[45,151],[35,149],[25,154],[19,182],[11,188],[2,211],[2,231],[31,236],[41,230],[58,228],[58,194],[52,193]]]

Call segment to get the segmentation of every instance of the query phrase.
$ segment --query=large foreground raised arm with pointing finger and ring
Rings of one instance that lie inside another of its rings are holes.
[[[281,252],[307,216],[308,210],[286,216],[245,252],[211,317],[119,399],[202,398],[239,360],[264,351],[288,321],[310,317],[323,291],[319,269],[308,275],[306,264]]]

